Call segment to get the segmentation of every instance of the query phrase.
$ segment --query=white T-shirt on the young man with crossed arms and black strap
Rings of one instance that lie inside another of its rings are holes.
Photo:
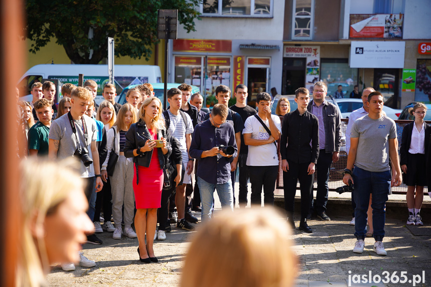
[[[281,132],[280,117],[271,115],[275,126]],[[269,129],[269,120],[262,120]],[[250,116],[244,124],[243,134],[251,134],[252,139],[267,140],[269,133],[255,116]],[[277,147],[274,143],[268,143],[260,146],[248,146],[247,156],[248,166],[278,166]]]

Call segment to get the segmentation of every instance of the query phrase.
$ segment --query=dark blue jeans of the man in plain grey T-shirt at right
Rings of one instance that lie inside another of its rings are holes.
[[[353,170],[355,184],[355,236],[364,240],[367,226],[367,211],[370,194],[373,195],[371,207],[373,208],[374,239],[382,241],[385,237],[386,202],[391,189],[391,171],[371,172],[355,167]]]

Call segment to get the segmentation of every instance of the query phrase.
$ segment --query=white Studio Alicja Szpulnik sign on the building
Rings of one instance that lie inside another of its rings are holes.
[[[352,41],[351,68],[404,68],[403,41]]]

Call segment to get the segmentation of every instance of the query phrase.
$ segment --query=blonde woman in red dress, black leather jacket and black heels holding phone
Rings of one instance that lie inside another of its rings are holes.
[[[130,126],[124,144],[124,155],[133,158],[135,163],[135,229],[139,241],[139,260],[144,263],[158,261],[153,250],[157,209],[160,208],[163,188],[163,167],[172,153],[171,146],[166,142],[167,131],[161,113],[160,100],[147,98],[139,108],[139,121]],[[163,147],[156,147],[154,140],[162,140]]]

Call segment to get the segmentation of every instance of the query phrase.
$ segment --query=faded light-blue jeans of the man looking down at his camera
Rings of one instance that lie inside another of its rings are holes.
[[[214,203],[214,190],[216,189],[222,208],[233,211],[233,190],[232,181],[230,179],[226,183],[212,184],[198,177],[198,185],[202,202],[202,221],[211,219],[211,209]]]

